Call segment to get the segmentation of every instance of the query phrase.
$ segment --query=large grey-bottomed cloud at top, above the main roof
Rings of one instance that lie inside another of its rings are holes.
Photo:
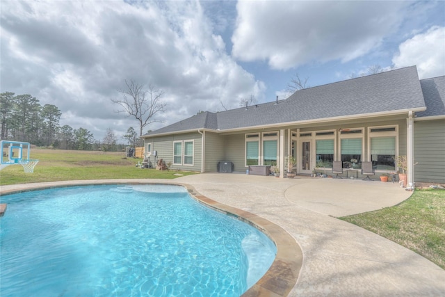
[[[274,69],[351,61],[403,21],[404,1],[240,1],[232,54]]]

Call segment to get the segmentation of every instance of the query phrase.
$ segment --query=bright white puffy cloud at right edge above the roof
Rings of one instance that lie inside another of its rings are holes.
[[[433,26],[403,42],[392,59],[395,67],[417,65],[420,79],[445,75],[445,27]]]

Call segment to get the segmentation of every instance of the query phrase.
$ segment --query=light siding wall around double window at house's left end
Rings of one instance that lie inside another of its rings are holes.
[[[177,170],[187,170],[187,171],[201,171],[201,154],[202,154],[202,138],[199,133],[189,133],[189,134],[178,134],[172,136],[158,136],[145,138],[145,143],[152,143],[152,151],[157,152],[156,160],[163,159],[166,164],[169,162],[173,163],[173,143],[175,141],[190,141],[193,140],[193,166],[190,165],[176,165],[172,164],[170,168]],[[154,156],[150,157],[153,166]]]

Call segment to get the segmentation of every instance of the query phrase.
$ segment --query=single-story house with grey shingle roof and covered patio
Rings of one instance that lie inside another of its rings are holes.
[[[445,182],[445,77],[419,81],[415,66],[296,91],[289,98],[193,115],[143,136],[145,152],[172,168],[217,172],[232,162],[294,171],[361,174],[372,161],[375,175],[396,172],[406,155],[408,182]],[[414,166],[415,164],[415,166]],[[281,177],[284,176],[281,170]]]

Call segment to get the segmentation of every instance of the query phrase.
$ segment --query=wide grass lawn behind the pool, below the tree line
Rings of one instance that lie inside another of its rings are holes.
[[[33,182],[55,182],[74,179],[174,179],[175,173],[195,172],[136,168],[142,159],[126,158],[124,152],[90,152],[42,150],[31,148],[31,159],[40,160],[33,173],[25,173],[20,165],[0,171],[0,185]]]

